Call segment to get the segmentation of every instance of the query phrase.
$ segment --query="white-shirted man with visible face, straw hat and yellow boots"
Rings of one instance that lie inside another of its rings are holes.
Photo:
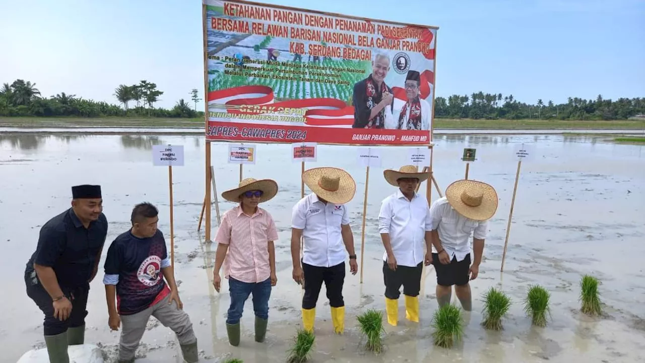
[[[401,285],[406,318],[418,323],[422,263],[427,266],[432,261],[432,225],[428,201],[416,190],[419,183],[430,177],[430,172],[419,172],[418,167],[406,165],[399,171],[386,170],[383,174],[390,185],[399,187],[381,202],[379,213],[379,233],[385,247],[383,280],[388,323],[397,325]]]

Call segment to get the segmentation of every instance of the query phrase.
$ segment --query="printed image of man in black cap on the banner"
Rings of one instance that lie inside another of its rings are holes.
[[[394,111],[397,119],[396,129],[399,130],[430,130],[430,116],[432,110],[425,99],[419,97],[421,74],[416,70],[409,70],[405,78],[405,93],[408,98],[401,110]]]

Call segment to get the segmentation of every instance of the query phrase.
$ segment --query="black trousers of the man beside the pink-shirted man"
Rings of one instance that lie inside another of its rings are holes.
[[[313,309],[323,286],[331,307],[345,306],[342,300],[342,284],[345,281],[345,263],[332,267],[317,267],[303,263],[304,296],[303,309]]]

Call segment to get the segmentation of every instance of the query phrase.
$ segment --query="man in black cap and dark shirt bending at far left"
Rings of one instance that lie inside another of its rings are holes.
[[[41,228],[25,284],[45,314],[50,363],[68,363],[68,345],[84,343],[87,296],[107,233],[99,185],[72,187],[72,207]]]

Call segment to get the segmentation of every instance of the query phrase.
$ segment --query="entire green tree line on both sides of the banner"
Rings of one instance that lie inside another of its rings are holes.
[[[155,107],[163,91],[157,85],[142,80],[136,85],[119,85],[114,90],[118,105],[93,101],[61,92],[50,98],[41,96],[35,83],[16,79],[0,87],[0,116],[79,116],[79,117],[159,117],[196,118],[204,112],[197,111],[197,88],[188,94],[188,101],[179,99],[172,109]],[[470,96],[454,94],[447,99],[435,98],[435,117],[471,119],[627,119],[645,114],[645,98],[604,99],[568,98],[567,103],[555,104],[519,102],[513,95],[473,93]]]

